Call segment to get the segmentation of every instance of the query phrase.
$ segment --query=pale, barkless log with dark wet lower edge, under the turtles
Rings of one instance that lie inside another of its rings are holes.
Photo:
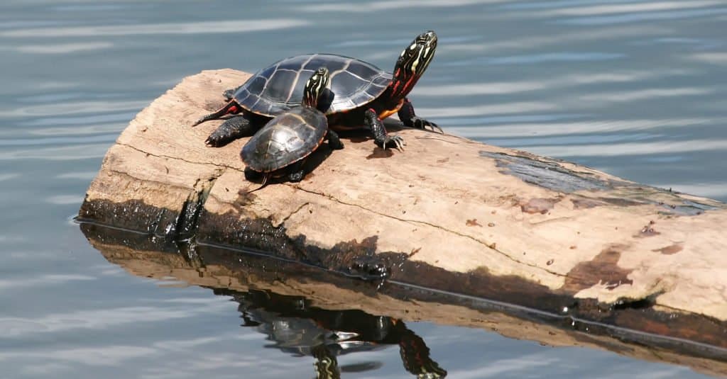
[[[727,326],[723,203],[395,123],[405,152],[343,135],[345,148],[321,148],[302,182],[246,194],[259,185],[238,157],[246,139],[206,147],[220,121],[190,126],[248,77],[204,71],[142,110],[79,219],[336,271],[375,254],[395,282],[616,325],[619,312],[648,309],[621,326],[727,347],[651,322],[678,314]]]

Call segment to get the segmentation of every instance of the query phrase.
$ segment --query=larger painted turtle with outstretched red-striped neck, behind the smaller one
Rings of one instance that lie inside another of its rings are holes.
[[[417,117],[406,98],[414,84],[434,57],[437,35],[422,33],[401,52],[393,73],[387,73],[369,62],[335,54],[305,54],[289,57],[251,76],[235,90],[225,91],[229,102],[217,112],[200,118],[204,121],[236,115],[222,123],[206,140],[210,146],[221,146],[241,136],[254,134],[265,121],[300,105],[305,78],[320,67],[329,69],[329,96],[321,101],[331,128],[337,131],[371,129],[374,142],[381,147],[403,145],[401,136],[388,135],[383,123],[366,121],[367,110],[377,118],[398,113],[404,125],[441,131],[433,122]]]

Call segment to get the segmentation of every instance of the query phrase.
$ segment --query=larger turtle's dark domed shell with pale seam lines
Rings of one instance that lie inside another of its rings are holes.
[[[300,106],[305,82],[318,68],[328,68],[329,92],[319,100],[326,114],[366,105],[379,97],[392,76],[369,62],[336,54],[289,57],[255,73],[233,95],[238,104],[259,115],[273,117]],[[329,107],[326,107],[329,105]]]

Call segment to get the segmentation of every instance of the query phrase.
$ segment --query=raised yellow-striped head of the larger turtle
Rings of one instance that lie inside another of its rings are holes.
[[[435,49],[437,49],[437,35],[432,30],[419,34],[409,46],[406,46],[394,67],[394,78],[391,83],[393,97],[403,98],[409,94],[429,67]]]

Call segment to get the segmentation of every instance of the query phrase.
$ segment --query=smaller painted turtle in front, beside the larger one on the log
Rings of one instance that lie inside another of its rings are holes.
[[[270,176],[287,176],[291,182],[300,182],[305,176],[305,158],[326,138],[332,149],[343,148],[337,134],[329,131],[326,115],[316,109],[328,83],[328,69],[318,68],[305,84],[301,106],[277,115],[242,148],[246,176],[263,174],[262,184],[255,190],[265,187]]]

